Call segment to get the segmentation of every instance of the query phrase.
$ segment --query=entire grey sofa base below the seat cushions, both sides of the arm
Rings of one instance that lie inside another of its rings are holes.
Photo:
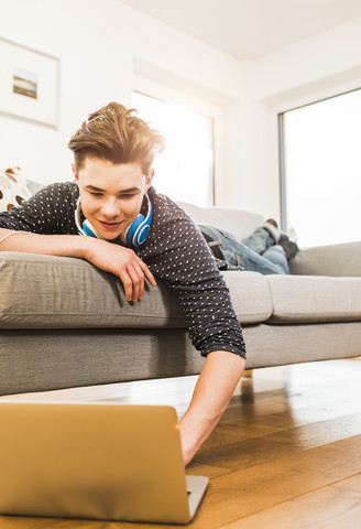
[[[249,369],[361,355],[361,323],[244,326]],[[204,358],[184,330],[0,330],[0,395],[178,377]]]

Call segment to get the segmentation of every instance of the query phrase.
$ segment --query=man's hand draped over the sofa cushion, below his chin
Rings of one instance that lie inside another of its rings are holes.
[[[128,301],[136,303],[143,298],[144,280],[155,287],[153,273],[136,253],[123,246],[112,245],[106,240],[94,239],[86,253],[86,259],[96,267],[120,278],[124,285]]]

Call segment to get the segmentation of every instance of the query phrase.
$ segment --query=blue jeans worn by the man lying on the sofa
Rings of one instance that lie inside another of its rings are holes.
[[[236,237],[223,229],[199,225],[203,233],[212,238],[211,246],[218,246],[223,259],[230,264],[244,270],[271,273],[289,273],[288,262],[283,248],[265,228],[258,228],[253,234],[239,242]]]

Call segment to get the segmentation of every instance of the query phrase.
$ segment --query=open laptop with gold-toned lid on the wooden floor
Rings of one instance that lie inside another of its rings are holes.
[[[172,407],[2,401],[0,424],[1,515],[188,523],[208,485]]]

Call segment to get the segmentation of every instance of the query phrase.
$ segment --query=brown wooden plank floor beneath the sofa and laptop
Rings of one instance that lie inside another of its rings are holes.
[[[194,385],[195,377],[186,377],[47,392],[36,400],[171,403],[180,417]],[[254,371],[187,473],[210,477],[193,529],[361,528],[360,359]],[[0,517],[0,529],[146,527],[172,526]]]

